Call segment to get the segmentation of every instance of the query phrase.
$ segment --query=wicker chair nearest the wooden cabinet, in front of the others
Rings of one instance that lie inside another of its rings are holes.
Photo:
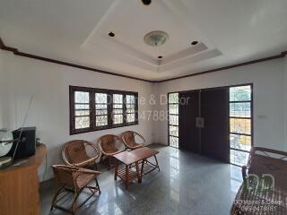
[[[60,185],[57,193],[55,194],[52,202],[52,206],[50,211],[52,211],[54,208],[66,211],[72,214],[75,214],[75,212],[83,206],[85,202],[87,202],[91,196],[94,195],[97,191],[99,191],[100,194],[100,186],[97,180],[97,176],[100,174],[98,171],[93,171],[90,169],[85,168],[75,168],[72,166],[65,166],[65,165],[54,165],[52,166],[54,171],[54,176],[57,180],[57,183]],[[95,181],[96,186],[91,186],[91,181]],[[71,189],[73,187],[73,189]],[[91,194],[83,200],[83,202],[77,204],[77,199],[82,193],[82,191],[87,188],[91,192]],[[57,202],[61,201],[67,193],[74,193],[74,199],[72,202],[71,209],[66,209],[64,207],[61,207],[57,204]],[[57,198],[61,193],[62,194],[60,198]]]

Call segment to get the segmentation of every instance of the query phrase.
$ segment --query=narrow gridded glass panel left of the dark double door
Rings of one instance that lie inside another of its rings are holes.
[[[178,93],[169,93],[169,145],[178,148]]]

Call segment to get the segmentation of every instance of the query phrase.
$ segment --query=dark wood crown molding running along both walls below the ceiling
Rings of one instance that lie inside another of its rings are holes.
[[[203,72],[199,72],[199,73],[191,73],[191,74],[187,74],[187,75],[183,75],[183,76],[178,76],[178,77],[175,77],[175,78],[164,79],[164,80],[161,80],[161,81],[151,81],[151,80],[146,80],[146,79],[141,79],[141,78],[135,78],[133,76],[129,76],[129,75],[125,75],[125,74],[112,73],[112,72],[108,72],[108,71],[104,71],[104,70],[99,70],[99,69],[91,68],[89,66],[84,66],[84,65],[80,65],[80,64],[72,64],[72,63],[67,63],[67,62],[64,62],[64,61],[58,61],[58,60],[47,58],[47,57],[44,57],[44,56],[31,55],[29,53],[25,53],[25,52],[19,51],[18,48],[7,47],[4,44],[3,40],[1,39],[1,37],[0,37],[0,48],[5,50],[5,51],[13,52],[13,54],[15,56],[25,56],[25,57],[29,57],[29,58],[32,58],[32,59],[46,61],[46,62],[50,62],[50,63],[54,63],[54,64],[62,64],[62,65],[66,65],[66,66],[72,66],[74,68],[79,68],[79,69],[83,69],[83,70],[89,70],[89,71],[96,72],[96,73],[105,73],[105,74],[115,75],[115,76],[124,77],[124,78],[128,78],[128,79],[134,79],[134,80],[143,81],[143,82],[154,82],[154,83],[170,82],[170,81],[173,81],[173,80],[183,79],[183,78],[192,77],[192,76],[196,76],[196,75],[201,75],[201,74],[205,74],[205,73],[214,73],[214,72],[219,72],[219,71],[222,71],[222,70],[228,70],[228,69],[239,67],[239,66],[243,66],[243,65],[257,64],[257,63],[260,63],[260,62],[274,60],[274,59],[277,59],[277,58],[282,58],[284,56],[287,56],[287,51],[284,51],[281,54],[276,55],[276,56],[269,56],[269,57],[265,57],[265,58],[261,58],[261,59],[257,59],[257,60],[252,60],[252,61],[248,61],[248,62],[244,62],[244,63],[240,63],[240,64],[232,64],[232,65],[223,66],[223,67],[220,67],[220,68],[207,70],[207,71],[203,71]]]

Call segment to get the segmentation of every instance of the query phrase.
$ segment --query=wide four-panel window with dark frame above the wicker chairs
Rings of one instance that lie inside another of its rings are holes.
[[[137,92],[70,86],[70,134],[138,124]]]

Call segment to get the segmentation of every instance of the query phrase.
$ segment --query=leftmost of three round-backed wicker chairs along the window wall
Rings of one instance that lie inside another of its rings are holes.
[[[94,150],[95,157],[90,158],[87,155],[86,147],[90,146]],[[77,140],[67,142],[62,148],[62,159],[65,165],[74,166],[78,168],[86,168],[95,166],[97,169],[96,159],[100,156],[99,150],[91,142]]]

